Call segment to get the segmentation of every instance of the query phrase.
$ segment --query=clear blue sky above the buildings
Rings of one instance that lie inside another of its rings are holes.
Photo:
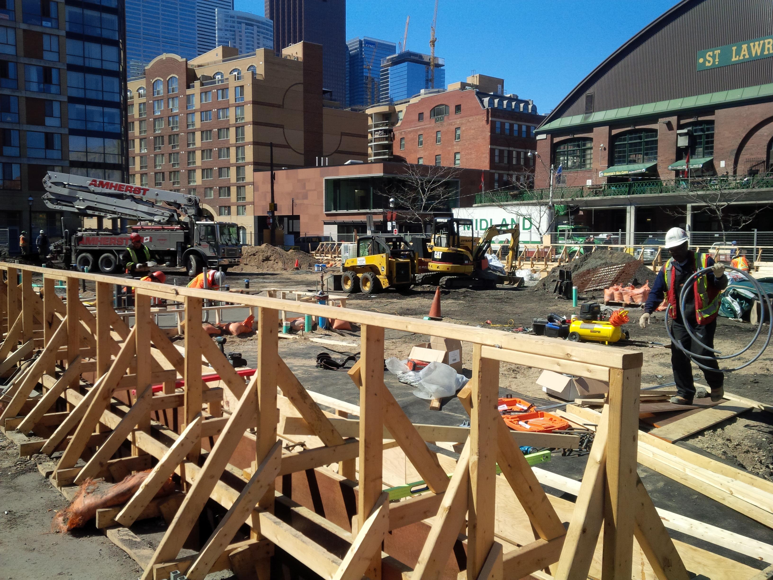
[[[475,70],[547,113],[604,58],[676,0],[439,0],[435,55],[453,83]],[[235,0],[264,15],[264,0]],[[434,0],[349,0],[346,39],[397,43],[410,15],[408,49],[429,53]]]

